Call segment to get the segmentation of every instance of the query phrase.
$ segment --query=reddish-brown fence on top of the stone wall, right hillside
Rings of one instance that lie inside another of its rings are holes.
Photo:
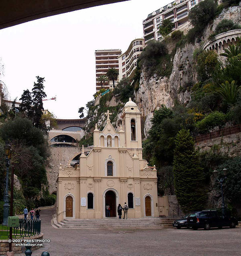
[[[206,141],[209,139],[215,139],[218,137],[223,137],[223,136],[231,135],[234,133],[240,133],[240,132],[241,132],[241,125],[235,125],[233,127],[224,128],[219,131],[213,131],[211,133],[205,133],[205,134],[195,136],[194,139],[195,139],[195,143],[198,143],[198,142]]]

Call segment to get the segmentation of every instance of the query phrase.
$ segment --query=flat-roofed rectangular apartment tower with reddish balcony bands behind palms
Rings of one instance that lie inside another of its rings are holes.
[[[101,83],[98,81],[98,77],[106,75],[109,68],[116,68],[119,70],[118,56],[121,54],[120,49],[107,49],[107,50],[96,50],[96,92],[101,89]],[[115,81],[117,84],[117,81]],[[112,81],[106,81],[103,83],[103,88],[113,88]]]

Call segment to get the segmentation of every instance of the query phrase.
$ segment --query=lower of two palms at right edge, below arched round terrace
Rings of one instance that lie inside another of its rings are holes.
[[[216,93],[219,94],[229,104],[229,106],[232,106],[237,101],[240,90],[241,86],[238,86],[233,80],[231,84],[229,81],[225,81],[225,84],[220,84]]]

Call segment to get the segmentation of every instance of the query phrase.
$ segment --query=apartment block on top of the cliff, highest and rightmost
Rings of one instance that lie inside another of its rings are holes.
[[[142,23],[145,43],[151,40],[159,41],[163,39],[159,33],[162,20],[170,19],[172,23],[174,23],[174,30],[185,27],[189,22],[189,11],[200,1],[201,0],[176,0],[150,13]]]

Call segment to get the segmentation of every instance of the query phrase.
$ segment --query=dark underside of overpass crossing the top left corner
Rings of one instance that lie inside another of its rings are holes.
[[[30,20],[128,0],[0,0],[0,29]]]

